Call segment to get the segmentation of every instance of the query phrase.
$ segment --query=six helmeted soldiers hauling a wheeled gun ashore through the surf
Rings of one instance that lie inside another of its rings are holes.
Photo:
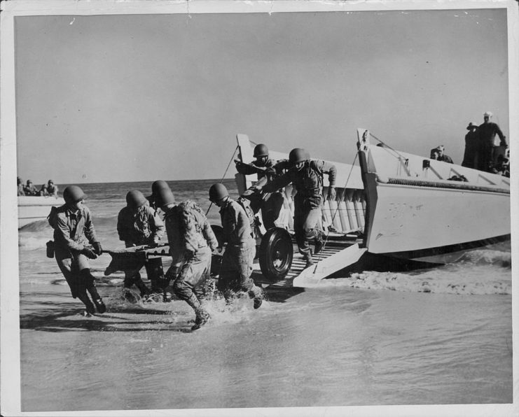
[[[319,253],[323,246],[323,232],[317,227],[324,203],[323,176],[327,174],[330,182],[327,198],[335,199],[335,166],[322,160],[310,160],[310,155],[301,148],[291,150],[289,160],[278,162],[268,157],[265,145],[258,145],[254,157],[251,164],[236,162],[237,171],[259,177],[240,199],[249,200],[254,213],[261,209],[266,228],[274,227],[284,198],[279,190],[292,183],[297,191],[294,198],[296,241],[309,267],[313,264],[312,255]],[[172,282],[174,294],[195,311],[192,329],[196,330],[209,319],[209,313],[200,302],[202,288],[210,275],[212,253],[221,243],[196,202],[177,203],[165,181],[155,181],[151,189],[149,197],[144,197],[138,190],[127,193],[127,204],[118,214],[118,236],[127,248],[157,246],[165,231],[172,263],[164,274],[160,258],[147,260],[144,265],[125,271],[124,286],[136,285],[141,296],[148,297],[154,292],[165,292]],[[104,313],[106,306],[95,288],[95,277],[88,264],[89,259],[97,258],[103,250],[95,234],[90,210],[84,204],[85,194],[77,185],[70,185],[65,188],[63,197],[65,204],[53,208],[48,218],[54,229],[50,256],[55,256],[72,297],[85,304],[85,316],[96,310]],[[223,241],[226,242],[216,288],[228,303],[246,293],[253,299],[254,309],[258,309],[264,293],[251,278],[256,255],[254,222],[244,204],[231,198],[222,183],[209,188],[209,201],[220,208]],[[141,280],[139,270],[143,266],[151,288]]]

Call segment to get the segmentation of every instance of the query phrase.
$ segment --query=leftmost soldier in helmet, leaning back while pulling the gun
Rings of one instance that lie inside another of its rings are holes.
[[[48,216],[48,222],[54,229],[57,266],[69,284],[72,297],[81,299],[85,304],[85,316],[95,313],[94,304],[98,313],[104,313],[106,306],[95,288],[95,277],[90,273],[88,264],[88,259],[101,255],[102,247],[95,236],[90,210],[83,205],[85,194],[77,185],[70,185],[63,191],[63,198],[65,204],[53,207]],[[93,250],[87,243],[93,246]]]

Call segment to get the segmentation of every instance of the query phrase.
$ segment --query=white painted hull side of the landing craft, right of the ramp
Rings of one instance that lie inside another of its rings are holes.
[[[444,263],[509,239],[509,178],[370,143],[362,143],[360,160],[369,253]],[[454,175],[468,181],[448,180]]]

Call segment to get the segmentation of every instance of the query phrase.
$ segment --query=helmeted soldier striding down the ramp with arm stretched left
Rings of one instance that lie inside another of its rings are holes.
[[[310,242],[314,241],[314,253],[323,247],[323,232],[317,229],[323,203],[323,176],[328,175],[330,186],[327,199],[335,199],[335,165],[322,160],[310,160],[310,155],[302,148],[294,148],[289,154],[291,168],[274,181],[261,186],[261,190],[272,192],[293,184],[297,194],[294,197],[293,228],[296,233],[299,252],[306,261],[306,267],[313,264]]]

